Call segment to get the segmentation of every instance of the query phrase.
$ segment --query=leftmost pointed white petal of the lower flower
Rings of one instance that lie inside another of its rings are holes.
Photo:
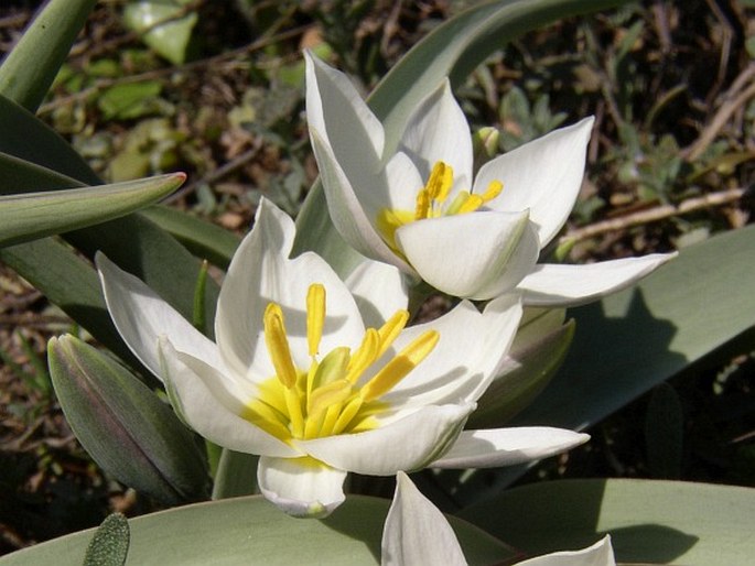
[[[223,368],[215,342],[206,338],[177,311],[142,281],[126,273],[103,253],[95,257],[105,302],[126,344],[152,373],[162,380],[158,338],[170,336],[179,350],[190,352],[215,368]]]

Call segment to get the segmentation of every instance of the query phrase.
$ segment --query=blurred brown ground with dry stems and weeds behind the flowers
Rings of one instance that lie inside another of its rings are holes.
[[[168,204],[245,233],[262,195],[295,214],[316,177],[301,51],[368,92],[471,3],[101,1],[39,116],[108,182],[185,171]],[[0,6],[1,54],[39,4]],[[563,20],[489,57],[457,95],[473,129],[494,128],[494,153],[596,117],[583,191],[556,250],[562,258],[668,251],[752,222],[755,2],[630,2]],[[0,553],[114,510],[157,509],[97,468],[56,404],[46,340],[82,333],[1,264],[0,292]],[[755,486],[755,352],[727,359],[657,388],[590,431],[587,446],[520,481]]]

